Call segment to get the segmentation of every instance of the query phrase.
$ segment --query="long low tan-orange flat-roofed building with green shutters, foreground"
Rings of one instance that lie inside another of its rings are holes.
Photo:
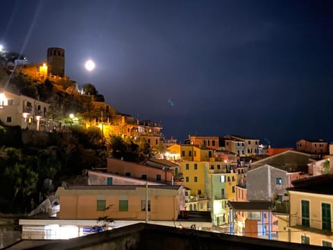
[[[85,185],[58,188],[59,219],[176,220],[182,187],[178,185]],[[148,197],[148,214],[146,214]],[[184,199],[184,198],[182,198]]]

